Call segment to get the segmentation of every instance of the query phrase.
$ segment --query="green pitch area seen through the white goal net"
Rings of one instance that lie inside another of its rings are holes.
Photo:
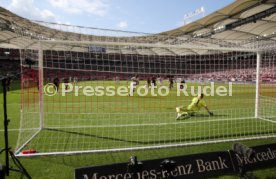
[[[126,81],[120,84],[85,81],[77,86],[83,89],[86,86],[118,88],[127,85]],[[141,81],[139,86],[145,85],[146,82]],[[164,83],[164,86],[168,84]],[[81,90],[62,94],[59,89],[55,96],[44,95],[43,129],[24,149],[35,149],[38,153],[77,152],[275,135],[276,123],[254,118],[255,86],[252,84],[232,85],[232,92],[225,93],[226,96],[206,97],[204,100],[215,116],[210,117],[202,110],[190,119],[176,120],[175,107],[187,106],[193,98],[192,91],[198,93],[199,84],[188,83],[187,86],[188,96],[183,92],[177,94],[176,87],[166,96],[158,96],[157,89],[157,96],[153,93],[146,96],[137,93],[133,96],[86,96]],[[218,86],[230,88],[226,84],[216,84],[215,88]],[[37,96],[36,88],[24,91],[22,125],[27,130],[21,133],[22,144],[40,126]],[[265,107],[275,111],[273,106]]]

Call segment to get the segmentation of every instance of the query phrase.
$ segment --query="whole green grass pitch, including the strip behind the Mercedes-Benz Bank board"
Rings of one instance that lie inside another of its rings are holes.
[[[120,82],[127,85],[126,82]],[[140,85],[144,85],[142,82]],[[116,85],[112,81],[81,82],[78,85]],[[167,84],[164,84],[167,85]],[[221,85],[221,84],[220,84]],[[191,83],[188,86],[192,86]],[[195,84],[197,86],[197,84]],[[16,88],[13,86],[13,88]],[[35,90],[35,89],[33,89]],[[187,91],[189,91],[188,89]],[[265,88],[264,96],[274,97],[275,88]],[[35,96],[35,93],[34,93]],[[37,99],[33,98],[37,110]],[[134,96],[129,97],[66,97],[58,94],[44,96],[44,129],[24,148],[35,148],[38,152],[99,150],[127,147],[146,147],[151,145],[170,145],[195,141],[226,140],[233,137],[256,137],[275,135],[273,122],[254,118],[255,86],[233,85],[231,97],[206,97],[205,101],[215,116],[209,117],[204,111],[187,120],[176,121],[175,107],[188,105],[192,97],[177,97],[173,89],[166,97]],[[2,101],[2,96],[0,97]],[[30,103],[30,102],[29,102]],[[269,120],[276,120],[275,99],[272,102],[261,100],[265,104],[260,114],[269,113]],[[2,111],[2,105],[0,110]],[[31,111],[30,111],[31,112]],[[20,121],[20,90],[8,92],[8,116],[10,145],[14,149],[18,137]],[[272,117],[271,117],[272,116]],[[31,118],[32,127],[39,126],[38,116]],[[3,114],[1,112],[1,119]],[[30,119],[29,119],[30,120]],[[30,121],[29,121],[30,122]],[[3,128],[3,125],[1,125]],[[34,131],[24,133],[26,137]],[[1,131],[3,134],[3,131]],[[244,142],[258,145],[275,139],[262,139]],[[0,140],[3,145],[3,138]],[[34,178],[72,178],[75,167],[125,162],[132,154],[139,159],[152,159],[198,152],[227,150],[231,143],[200,145],[144,151],[87,154],[73,156],[36,157],[21,159]],[[3,163],[3,154],[1,161]],[[275,168],[274,168],[275,170]],[[61,172],[60,171],[64,171]],[[265,174],[264,174],[265,173]],[[275,176],[273,169],[256,172],[256,176]],[[16,178],[12,174],[11,178]]]

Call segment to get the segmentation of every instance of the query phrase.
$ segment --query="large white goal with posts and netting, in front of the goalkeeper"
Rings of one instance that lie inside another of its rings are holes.
[[[254,41],[128,36],[68,32],[66,39],[21,50],[18,156],[276,136],[275,48],[262,50]],[[177,120],[176,107],[188,110],[201,93],[214,115],[203,107]]]

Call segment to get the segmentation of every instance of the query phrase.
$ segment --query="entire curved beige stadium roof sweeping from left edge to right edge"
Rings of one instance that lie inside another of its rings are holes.
[[[193,23],[159,34],[31,21],[0,7],[0,47],[37,49],[38,40],[49,41],[44,49],[85,51],[80,44],[95,44],[107,47],[107,53],[147,55],[206,54],[216,49],[250,51],[252,46],[256,50],[256,41],[275,45],[276,0],[237,0]]]

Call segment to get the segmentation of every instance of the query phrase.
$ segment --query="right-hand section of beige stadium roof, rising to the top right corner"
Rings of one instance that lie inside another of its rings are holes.
[[[249,39],[256,36],[270,36],[269,38],[276,40],[276,0],[236,0],[227,7],[220,9],[198,21],[182,26],[163,34],[171,36],[179,36],[182,34],[193,34],[200,36],[200,34],[210,34],[212,38],[218,39]],[[261,12],[266,12],[271,9],[273,12],[264,15],[264,18],[256,19],[251,23],[238,26],[233,29],[226,29],[223,27],[227,24],[232,24],[242,19],[256,16]],[[221,29],[220,29],[221,27]],[[222,31],[216,33],[214,31]],[[212,35],[212,33],[214,33]],[[274,35],[275,34],[275,35]]]

